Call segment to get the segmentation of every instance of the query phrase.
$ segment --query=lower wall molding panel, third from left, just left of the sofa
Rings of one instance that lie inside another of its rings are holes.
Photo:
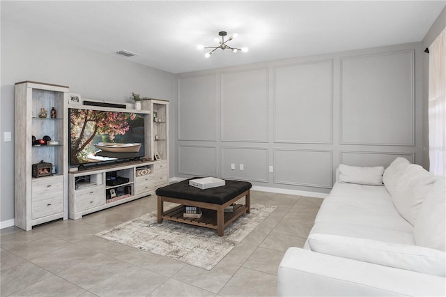
[[[274,183],[332,188],[333,152],[297,148],[275,148]]]

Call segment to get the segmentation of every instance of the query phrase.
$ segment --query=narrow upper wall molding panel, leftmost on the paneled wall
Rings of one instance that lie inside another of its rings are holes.
[[[217,75],[178,77],[178,140],[217,140]]]

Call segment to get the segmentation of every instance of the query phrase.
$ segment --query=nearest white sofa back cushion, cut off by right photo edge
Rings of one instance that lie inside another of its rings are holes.
[[[446,179],[439,178],[424,198],[413,228],[417,245],[446,252]]]

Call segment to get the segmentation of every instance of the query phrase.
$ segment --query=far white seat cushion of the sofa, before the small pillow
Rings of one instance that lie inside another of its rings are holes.
[[[398,213],[385,187],[373,185],[335,183],[316,215],[315,224],[321,222],[339,224],[340,229],[353,224],[357,229],[371,227],[413,234],[413,226]]]

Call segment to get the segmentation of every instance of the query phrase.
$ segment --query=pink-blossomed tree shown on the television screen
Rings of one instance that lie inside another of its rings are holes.
[[[95,142],[115,142],[115,140],[116,143],[129,142],[128,132],[140,126],[141,121],[144,126],[144,119],[134,113],[71,109],[71,164],[95,162],[95,160],[89,160],[89,156],[95,154],[93,146]]]

